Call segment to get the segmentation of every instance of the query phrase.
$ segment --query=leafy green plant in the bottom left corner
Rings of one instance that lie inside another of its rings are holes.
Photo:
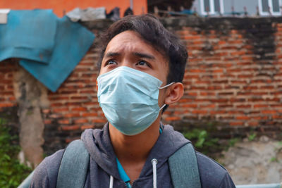
[[[18,187],[32,171],[18,161],[18,137],[10,134],[11,128],[0,118],[0,187]]]

